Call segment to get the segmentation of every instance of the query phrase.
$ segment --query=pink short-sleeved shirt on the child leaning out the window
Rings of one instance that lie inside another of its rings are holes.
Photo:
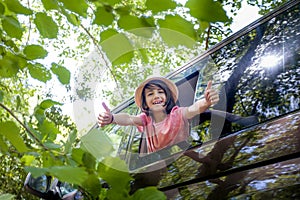
[[[164,147],[184,141],[189,136],[189,123],[184,116],[185,107],[175,106],[170,114],[161,122],[155,123],[145,113],[140,115],[143,126],[138,126],[140,132],[145,132],[147,152],[155,152]]]

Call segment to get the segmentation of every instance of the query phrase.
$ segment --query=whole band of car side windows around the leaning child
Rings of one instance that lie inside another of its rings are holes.
[[[170,75],[179,89],[180,106],[203,98],[209,80],[220,92],[220,101],[190,121],[188,143],[143,155],[143,135],[135,127],[113,126],[125,136],[119,154],[131,169],[166,159],[187,148],[236,133],[299,110],[300,68],[299,6],[251,27]],[[132,102],[133,103],[133,102]],[[132,104],[124,111],[137,113]],[[123,112],[123,111],[122,111]],[[130,134],[129,134],[130,133]]]

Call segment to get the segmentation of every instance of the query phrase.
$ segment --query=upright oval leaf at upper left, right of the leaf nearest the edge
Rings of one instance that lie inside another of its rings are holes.
[[[35,15],[34,23],[40,34],[45,38],[56,38],[58,33],[58,26],[53,21],[52,17],[47,16],[46,13],[37,13]]]

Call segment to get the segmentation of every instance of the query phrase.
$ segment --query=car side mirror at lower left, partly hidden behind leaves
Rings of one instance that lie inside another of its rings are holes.
[[[57,178],[42,175],[37,178],[29,173],[24,183],[25,189],[46,200],[81,200],[81,192],[72,187],[69,183],[60,182]]]

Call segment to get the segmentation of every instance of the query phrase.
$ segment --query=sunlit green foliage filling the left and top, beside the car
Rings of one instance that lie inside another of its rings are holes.
[[[53,81],[69,91],[75,67],[68,59],[82,62],[93,48],[105,69],[103,79],[114,80],[120,91],[129,91],[153,74],[154,65],[166,66],[159,68],[166,74],[188,54],[197,54],[199,47],[208,48],[216,38],[228,35],[229,30],[217,32],[224,22],[230,24],[222,8],[229,1],[220,2],[1,0],[1,197],[32,199],[22,190],[26,173],[31,172],[73,183],[91,199],[148,194],[163,199],[154,188],[129,195],[132,178],[123,161],[111,157],[114,149],[105,133],[97,130],[79,139],[75,124],[60,110],[62,104],[41,91]],[[203,5],[206,12],[201,12]],[[215,38],[211,31],[217,33]],[[91,80],[83,75],[84,83]],[[129,80],[135,81],[128,85]],[[83,98],[88,97],[86,89],[81,89]],[[102,179],[112,187],[103,188]]]

